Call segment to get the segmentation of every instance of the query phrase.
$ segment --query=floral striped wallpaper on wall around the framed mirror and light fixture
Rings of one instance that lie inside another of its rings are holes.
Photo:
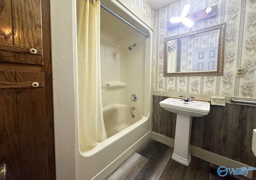
[[[185,4],[190,4],[190,12],[217,4],[218,14],[192,28],[166,29],[167,21],[180,16]],[[255,0],[177,0],[155,10],[155,19],[153,90],[256,98]],[[223,75],[164,77],[164,38],[222,22],[226,22]],[[244,68],[244,77],[235,77],[236,67]]]

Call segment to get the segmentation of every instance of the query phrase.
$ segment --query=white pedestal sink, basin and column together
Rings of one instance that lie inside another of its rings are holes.
[[[208,115],[210,103],[202,101],[186,102],[180,99],[167,98],[159,104],[165,110],[177,113],[172,159],[189,166],[191,162],[189,146],[192,117]]]

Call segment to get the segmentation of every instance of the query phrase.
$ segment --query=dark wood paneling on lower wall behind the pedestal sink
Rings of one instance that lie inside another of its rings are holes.
[[[152,131],[174,138],[176,114],[160,107],[168,97],[153,96]],[[210,106],[204,117],[193,117],[190,144],[226,158],[255,166],[252,129],[256,128],[256,107],[226,104]]]

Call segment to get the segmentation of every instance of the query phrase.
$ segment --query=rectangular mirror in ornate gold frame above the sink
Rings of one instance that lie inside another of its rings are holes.
[[[164,38],[164,76],[222,75],[225,23]]]

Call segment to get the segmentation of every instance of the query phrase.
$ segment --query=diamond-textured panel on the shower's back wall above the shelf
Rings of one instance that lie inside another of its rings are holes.
[[[119,55],[113,47],[100,45],[101,84],[116,82],[120,78]]]

